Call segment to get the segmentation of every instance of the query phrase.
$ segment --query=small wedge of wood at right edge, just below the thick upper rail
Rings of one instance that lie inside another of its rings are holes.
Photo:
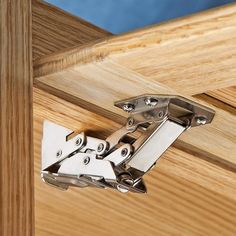
[[[236,86],[209,91],[207,95],[236,108]]]

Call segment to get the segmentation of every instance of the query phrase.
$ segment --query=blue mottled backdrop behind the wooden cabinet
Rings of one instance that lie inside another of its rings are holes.
[[[235,0],[47,0],[114,34]]]

